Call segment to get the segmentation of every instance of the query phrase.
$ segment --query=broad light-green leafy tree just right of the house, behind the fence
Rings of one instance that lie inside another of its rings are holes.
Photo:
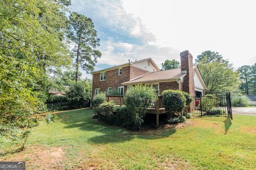
[[[223,94],[238,92],[239,73],[234,71],[227,62],[213,61],[207,63],[207,58],[199,61],[197,66],[207,86],[206,94]]]

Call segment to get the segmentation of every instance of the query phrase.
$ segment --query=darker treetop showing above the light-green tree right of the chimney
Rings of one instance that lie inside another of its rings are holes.
[[[204,61],[205,63],[220,62],[228,64],[228,60],[224,60],[221,54],[219,54],[218,52],[211,52],[211,50],[207,50],[202,54],[198,55],[195,62],[197,64],[200,61]]]

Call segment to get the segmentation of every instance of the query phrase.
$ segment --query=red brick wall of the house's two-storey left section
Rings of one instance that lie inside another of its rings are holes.
[[[117,89],[123,86],[121,83],[130,81],[131,79],[138,77],[147,71],[139,69],[133,66],[122,67],[122,75],[118,75],[119,69],[106,71],[106,80],[100,81],[100,73],[92,75],[92,97],[95,94],[95,89],[100,88],[100,91],[107,91],[108,87]],[[124,86],[124,92],[127,90],[127,86]]]

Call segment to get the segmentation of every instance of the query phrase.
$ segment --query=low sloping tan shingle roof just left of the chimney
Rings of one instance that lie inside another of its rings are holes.
[[[184,77],[186,73],[181,73],[181,69],[172,69],[164,71],[149,72],[143,74],[137,78],[134,78],[130,81],[122,83],[123,85],[137,84],[137,83],[147,83],[147,82],[156,82],[156,81],[168,81],[168,80],[177,80]]]

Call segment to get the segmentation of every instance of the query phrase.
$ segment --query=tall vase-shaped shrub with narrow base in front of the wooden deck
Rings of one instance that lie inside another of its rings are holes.
[[[154,89],[139,84],[131,87],[126,91],[124,101],[126,106],[131,111],[132,120],[134,123],[133,130],[141,129],[143,117],[146,115],[147,108],[157,100],[157,95]]]

